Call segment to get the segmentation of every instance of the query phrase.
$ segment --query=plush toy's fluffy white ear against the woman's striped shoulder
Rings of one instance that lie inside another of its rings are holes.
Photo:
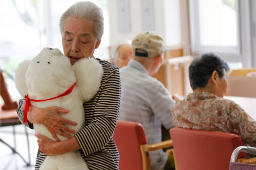
[[[76,74],[76,86],[85,101],[92,99],[99,90],[103,75],[101,64],[94,58],[84,58],[73,65]]]

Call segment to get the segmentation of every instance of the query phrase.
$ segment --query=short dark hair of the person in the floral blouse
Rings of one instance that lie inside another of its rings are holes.
[[[212,72],[217,71],[220,78],[224,70],[230,71],[227,61],[216,53],[204,53],[193,59],[189,67],[190,86],[195,88],[206,87]]]

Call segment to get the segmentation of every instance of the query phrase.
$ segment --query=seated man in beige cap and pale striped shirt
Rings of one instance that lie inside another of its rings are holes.
[[[167,88],[151,77],[164,59],[163,39],[154,32],[142,32],[132,42],[133,59],[120,69],[121,101],[118,120],[139,122],[146,131],[147,143],[162,139],[161,124],[173,127],[172,107],[175,100]],[[167,163],[162,149],[150,152],[151,169],[161,170]]]

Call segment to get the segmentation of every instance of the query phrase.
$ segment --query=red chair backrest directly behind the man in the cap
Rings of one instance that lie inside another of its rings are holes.
[[[142,170],[140,146],[147,144],[143,126],[135,122],[118,121],[113,139],[120,155],[119,169]]]

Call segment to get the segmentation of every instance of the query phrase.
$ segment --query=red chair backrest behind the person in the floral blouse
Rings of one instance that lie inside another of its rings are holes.
[[[170,136],[178,170],[228,170],[233,150],[243,146],[238,135],[225,132],[172,128]]]

